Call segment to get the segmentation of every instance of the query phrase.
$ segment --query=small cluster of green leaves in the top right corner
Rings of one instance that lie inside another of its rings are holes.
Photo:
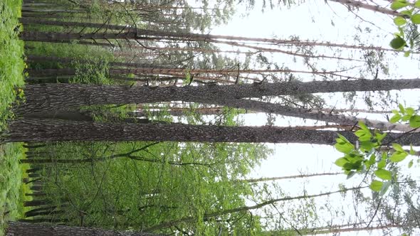
[[[410,49],[414,48],[414,39],[406,39],[404,36],[404,29],[409,22],[418,25],[420,24],[420,1],[417,0],[411,3],[406,0],[394,0],[391,4],[391,9],[399,11],[400,16],[394,18],[395,25],[398,26],[398,32],[394,33],[394,39],[392,39],[390,45],[392,48],[397,50],[403,50],[409,45]],[[407,43],[407,40],[409,41]],[[407,50],[405,55],[409,56],[410,50]]]

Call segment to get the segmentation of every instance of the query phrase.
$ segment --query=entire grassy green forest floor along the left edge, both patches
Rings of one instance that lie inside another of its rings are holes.
[[[11,106],[16,97],[23,97],[23,41],[19,40],[18,18],[21,1],[0,1],[0,133],[6,121],[13,118]],[[18,87],[18,89],[16,89]],[[24,158],[23,144],[0,144],[0,235],[8,220],[23,214],[23,195],[28,186],[22,186],[24,168],[19,159]]]

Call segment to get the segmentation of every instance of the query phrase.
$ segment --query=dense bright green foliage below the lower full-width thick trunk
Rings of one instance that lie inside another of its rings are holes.
[[[226,113],[221,124],[235,125],[234,115]],[[158,120],[170,121],[168,117],[154,114]],[[192,216],[194,220],[177,227],[196,235],[216,235],[219,228],[233,235],[261,230],[258,217],[246,212],[204,216],[245,205],[244,196],[252,191],[247,182],[236,180],[270,154],[263,145],[57,142],[33,151],[31,160],[54,160],[32,165],[43,167],[47,200],[65,210],[65,215],[53,217],[69,219],[68,225],[80,225],[82,214],[84,226],[144,230]]]

